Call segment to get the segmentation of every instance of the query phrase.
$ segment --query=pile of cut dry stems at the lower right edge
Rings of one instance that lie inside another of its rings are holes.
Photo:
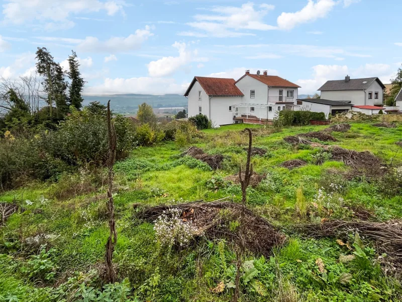
[[[355,232],[360,237],[372,240],[379,254],[386,253],[388,261],[402,269],[402,221],[345,221],[324,220],[322,223],[308,223],[296,226],[298,232],[309,237],[334,237],[348,240]]]

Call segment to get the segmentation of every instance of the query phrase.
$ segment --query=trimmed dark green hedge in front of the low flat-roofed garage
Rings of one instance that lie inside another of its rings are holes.
[[[282,110],[279,112],[279,116],[274,121],[274,125],[279,126],[304,126],[309,125],[310,120],[326,120],[324,112],[312,112],[312,111],[293,111]]]

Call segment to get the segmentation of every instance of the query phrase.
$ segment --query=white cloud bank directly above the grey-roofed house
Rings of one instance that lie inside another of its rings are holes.
[[[342,80],[348,74],[351,78],[378,77],[383,83],[393,77],[392,67],[388,64],[365,64],[357,68],[349,68],[347,65],[316,65],[312,69],[312,79],[296,81],[302,87],[299,89],[300,94],[314,94],[325,82]]]

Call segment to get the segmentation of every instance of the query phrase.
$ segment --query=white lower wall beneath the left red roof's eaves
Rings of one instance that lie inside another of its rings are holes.
[[[215,126],[234,124],[235,108],[229,111],[229,106],[240,104],[242,97],[212,97],[211,120]],[[258,110],[258,108],[256,108]],[[250,111],[250,109],[249,109]]]

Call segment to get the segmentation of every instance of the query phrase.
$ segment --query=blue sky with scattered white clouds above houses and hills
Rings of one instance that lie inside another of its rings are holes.
[[[194,76],[268,70],[314,94],[402,64],[400,0],[0,0],[0,77],[35,74],[46,47],[84,95],[183,94]]]

